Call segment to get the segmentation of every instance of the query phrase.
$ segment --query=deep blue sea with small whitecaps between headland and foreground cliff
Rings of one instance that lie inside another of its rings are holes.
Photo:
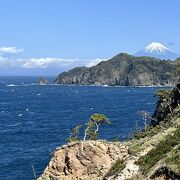
[[[32,180],[32,165],[40,175],[49,154],[93,113],[104,113],[112,121],[101,127],[102,139],[127,139],[143,128],[138,111],[154,112],[153,94],[159,89],[31,84],[36,79],[0,78],[1,180]]]

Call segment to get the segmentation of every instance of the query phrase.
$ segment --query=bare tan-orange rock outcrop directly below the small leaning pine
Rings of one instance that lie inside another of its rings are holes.
[[[127,156],[127,147],[119,142],[81,141],[57,149],[38,180],[98,180],[112,163]]]

